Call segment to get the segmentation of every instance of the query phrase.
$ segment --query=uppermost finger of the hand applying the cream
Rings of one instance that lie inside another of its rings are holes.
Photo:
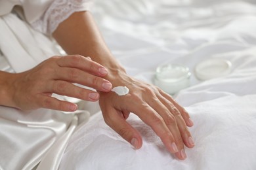
[[[108,71],[105,67],[91,60],[91,58],[85,58],[80,55],[63,56],[56,61],[60,67],[73,67],[87,71],[96,76],[105,76]]]

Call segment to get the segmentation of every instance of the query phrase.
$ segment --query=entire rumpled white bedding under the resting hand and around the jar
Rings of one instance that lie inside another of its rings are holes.
[[[152,83],[161,63],[190,67],[191,86],[175,98],[194,120],[196,146],[177,160],[131,115],[144,139],[134,150],[98,112],[75,131],[60,169],[256,169],[255,1],[98,0],[93,12],[130,75]],[[229,59],[232,72],[201,82],[194,67],[211,57]]]

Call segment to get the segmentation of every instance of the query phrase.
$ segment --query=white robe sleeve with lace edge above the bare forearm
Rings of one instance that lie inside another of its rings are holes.
[[[1,0],[0,16],[11,12],[14,6],[21,6],[26,21],[34,29],[51,35],[58,24],[74,12],[89,10],[93,0]]]

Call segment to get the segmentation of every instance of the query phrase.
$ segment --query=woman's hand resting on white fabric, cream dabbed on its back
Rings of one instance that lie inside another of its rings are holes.
[[[158,87],[135,80],[125,73],[108,80],[114,86],[127,86],[129,93],[123,96],[114,92],[100,93],[100,107],[106,124],[135,148],[140,148],[142,138],[139,132],[125,121],[133,112],[152,127],[169,152],[184,160],[184,144],[188,148],[194,146],[187,127],[193,126],[188,112]]]

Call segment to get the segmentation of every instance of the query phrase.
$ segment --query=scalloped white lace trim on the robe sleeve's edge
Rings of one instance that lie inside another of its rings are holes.
[[[51,35],[58,24],[66,20],[74,12],[89,10],[91,0],[55,0],[43,16],[31,23],[37,31]]]

